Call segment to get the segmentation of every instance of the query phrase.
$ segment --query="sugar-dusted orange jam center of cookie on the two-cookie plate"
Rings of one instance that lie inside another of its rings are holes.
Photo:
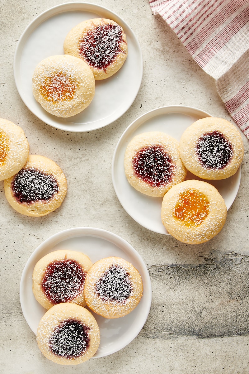
[[[70,76],[56,73],[44,80],[40,91],[41,95],[48,101],[71,100],[76,91],[76,82]]]

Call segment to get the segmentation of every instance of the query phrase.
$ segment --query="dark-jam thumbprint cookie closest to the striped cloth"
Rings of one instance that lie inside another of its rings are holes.
[[[235,174],[242,162],[242,137],[225,119],[199,119],[181,136],[180,155],[186,168],[197,177],[225,179]]]

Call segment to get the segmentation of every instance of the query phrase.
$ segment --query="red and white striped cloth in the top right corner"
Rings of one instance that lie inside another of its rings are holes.
[[[249,0],[149,2],[214,77],[228,112],[249,138]]]

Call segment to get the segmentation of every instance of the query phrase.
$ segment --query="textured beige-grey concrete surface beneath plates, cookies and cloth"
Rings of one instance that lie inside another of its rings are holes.
[[[190,246],[137,224],[120,205],[111,180],[113,151],[138,116],[164,105],[189,105],[231,120],[214,80],[192,60],[172,30],[153,16],[147,0],[91,1],[133,29],[144,73],[133,105],[105,128],[70,133],[37,119],[21,101],[13,56],[24,29],[55,0],[1,0],[0,116],[20,125],[31,154],[55,160],[68,194],[60,209],[29,218],[7,203],[0,182],[0,373],[249,373],[249,142],[239,193],[218,236]],[[98,227],[127,240],[141,255],[152,281],[152,308],[140,334],[113,355],[77,367],[43,357],[22,315],[19,282],[29,256],[43,240],[71,227]]]

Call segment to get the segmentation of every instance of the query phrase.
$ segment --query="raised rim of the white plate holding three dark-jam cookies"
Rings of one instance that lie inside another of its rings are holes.
[[[136,338],[136,336],[139,334],[139,332],[143,328],[146,322],[146,319],[149,315],[149,312],[150,312],[150,307],[152,303],[152,285],[150,281],[149,271],[141,255],[136,251],[136,249],[130,243],[127,242],[127,240],[123,239],[121,236],[118,236],[117,234],[114,234],[108,230],[99,229],[96,227],[72,227],[69,229],[61,230],[53,234],[52,236],[45,239],[42,243],[40,243],[40,245],[38,245],[37,248],[29,256],[24,266],[24,269],[22,271],[22,275],[20,279],[19,300],[20,300],[22,314],[25,318],[25,321],[27,322],[31,331],[36,335],[36,332],[33,330],[30,322],[27,319],[27,315],[28,315],[27,306],[25,306],[25,303],[24,303],[25,289],[27,288],[27,286],[25,287],[24,281],[25,281],[25,278],[28,276],[28,270],[31,266],[31,263],[37,256],[39,257],[39,255],[41,255],[41,257],[43,257],[42,251],[43,249],[46,249],[48,246],[51,247],[51,251],[48,252],[50,253],[52,252],[53,247],[59,244],[60,242],[62,242],[63,240],[70,239],[73,237],[81,237],[81,236],[99,237],[100,239],[112,242],[116,246],[118,246],[117,243],[122,244],[125,250],[127,250],[127,254],[132,254],[136,258],[136,260],[139,262],[143,270],[143,286],[144,286],[144,289],[146,289],[146,293],[143,292],[144,299],[145,299],[145,305],[143,308],[143,315],[142,315],[143,318],[139,318],[140,323],[138,324],[138,329],[136,329],[133,333],[130,333],[128,335],[128,338],[126,338],[124,342],[125,344],[123,344],[121,347],[118,345],[117,349],[116,348],[112,349],[110,352],[107,352],[107,353],[104,352],[104,354],[100,354],[100,355],[97,354],[98,352],[97,351],[95,355],[93,356],[93,358],[100,358],[100,357],[108,356],[108,355],[111,355],[112,353],[118,352],[120,349],[127,346],[127,344],[131,343],[131,341],[134,340],[134,338]],[[124,251],[123,247],[122,248],[119,247],[119,248],[122,249],[122,251]]]

